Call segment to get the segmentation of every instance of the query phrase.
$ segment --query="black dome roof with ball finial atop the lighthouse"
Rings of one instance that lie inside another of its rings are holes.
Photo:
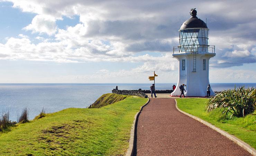
[[[191,9],[190,11],[191,17],[185,22],[183,22],[180,30],[188,29],[188,28],[208,28],[207,25],[204,23],[204,21],[196,17],[196,13],[197,12],[195,9]]]

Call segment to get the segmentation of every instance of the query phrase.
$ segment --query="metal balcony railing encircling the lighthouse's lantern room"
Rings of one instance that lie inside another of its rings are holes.
[[[179,52],[193,53],[193,52],[209,52],[215,53],[215,46],[209,45],[184,45],[173,47],[173,54]]]

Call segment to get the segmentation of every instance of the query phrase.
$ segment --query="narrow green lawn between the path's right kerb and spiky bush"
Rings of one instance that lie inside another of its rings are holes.
[[[207,100],[204,98],[177,99],[177,106],[186,113],[227,131],[256,149],[256,116],[247,115],[245,118],[233,117],[229,119],[221,117],[219,110],[207,113],[204,111]]]

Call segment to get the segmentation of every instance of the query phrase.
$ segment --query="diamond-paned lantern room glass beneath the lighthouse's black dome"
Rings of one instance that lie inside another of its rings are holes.
[[[208,52],[209,29],[180,30],[180,52]]]

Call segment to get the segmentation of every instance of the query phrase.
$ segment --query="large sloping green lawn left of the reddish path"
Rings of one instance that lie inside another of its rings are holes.
[[[68,108],[0,133],[0,155],[124,155],[146,98],[102,108]]]

